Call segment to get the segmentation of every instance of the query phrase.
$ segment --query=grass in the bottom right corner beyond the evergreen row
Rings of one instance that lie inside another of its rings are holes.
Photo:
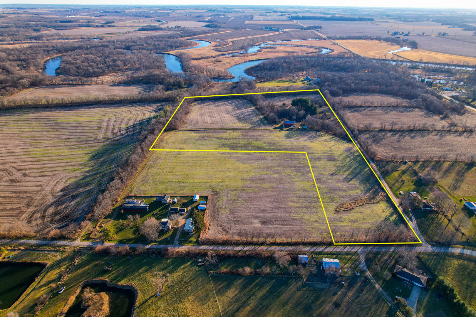
[[[474,257],[447,253],[422,253],[421,259],[436,276],[443,277],[453,284],[458,295],[476,309],[476,259]]]

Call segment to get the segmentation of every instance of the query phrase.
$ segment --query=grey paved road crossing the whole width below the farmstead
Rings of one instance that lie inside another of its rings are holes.
[[[0,245],[5,244],[30,244],[30,245],[46,245],[46,246],[73,246],[73,247],[96,247],[98,245],[123,247],[129,246],[130,248],[137,248],[140,244],[126,244],[126,243],[109,243],[109,242],[83,242],[83,241],[50,241],[50,240],[10,240],[0,239]],[[200,245],[200,246],[187,246],[187,245],[158,245],[148,244],[143,245],[144,248],[149,249],[162,249],[162,248],[176,248],[178,250],[186,249],[198,249],[198,250],[233,250],[233,251],[248,251],[248,250],[265,250],[265,251],[332,251],[332,252],[355,252],[355,251],[397,251],[401,249],[413,250],[416,252],[444,252],[454,254],[465,254],[469,256],[476,256],[476,250],[455,248],[455,247],[435,247],[430,245],[423,245],[420,247],[415,246],[316,246],[316,247],[296,247],[296,246],[234,246],[234,245]]]

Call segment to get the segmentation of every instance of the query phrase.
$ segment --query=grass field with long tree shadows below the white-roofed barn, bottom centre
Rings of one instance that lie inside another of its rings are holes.
[[[365,277],[341,276],[317,289],[302,278],[211,275],[211,280],[223,317],[397,316]]]

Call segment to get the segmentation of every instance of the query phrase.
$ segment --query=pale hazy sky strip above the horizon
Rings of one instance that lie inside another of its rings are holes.
[[[289,0],[0,0],[0,4],[5,3],[38,3],[38,4],[152,4],[152,5],[179,5],[179,4],[214,4],[214,5],[285,5],[289,6]],[[471,8],[476,9],[476,0],[458,0],[456,2],[447,0],[335,0],[332,2],[316,0],[300,0],[299,5],[303,6],[342,6],[342,7],[408,7],[408,8]]]

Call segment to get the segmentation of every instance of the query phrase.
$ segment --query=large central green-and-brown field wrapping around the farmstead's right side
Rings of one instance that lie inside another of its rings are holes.
[[[381,190],[353,144],[324,133],[182,130],[162,134],[155,148],[306,151],[333,232],[361,230],[384,219],[397,225],[403,221],[387,200],[334,211]],[[317,240],[320,231],[328,233],[305,154],[155,151],[130,192],[210,195],[205,238],[237,239],[250,232],[278,230],[280,240],[298,235]]]

